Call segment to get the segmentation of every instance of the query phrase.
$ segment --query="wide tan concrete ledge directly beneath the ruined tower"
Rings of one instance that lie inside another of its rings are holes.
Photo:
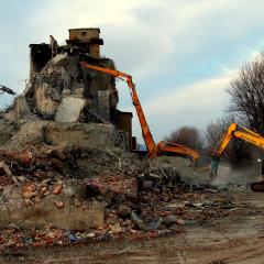
[[[80,145],[96,148],[119,147],[129,150],[128,134],[112,124],[62,123],[54,121],[31,121],[23,124],[2,124],[0,148],[23,148],[29,145],[54,146]]]

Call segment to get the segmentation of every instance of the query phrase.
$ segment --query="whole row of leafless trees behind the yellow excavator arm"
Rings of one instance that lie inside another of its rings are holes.
[[[232,122],[264,135],[264,54],[245,63],[226,90],[230,101],[227,114],[210,122],[205,131],[183,127],[165,140],[189,146],[210,156],[223,133]],[[233,167],[249,166],[260,150],[246,142],[233,139],[223,160]]]

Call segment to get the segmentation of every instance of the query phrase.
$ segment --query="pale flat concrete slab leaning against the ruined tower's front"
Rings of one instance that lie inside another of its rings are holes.
[[[77,122],[87,101],[80,98],[66,97],[59,103],[55,121],[57,122]]]

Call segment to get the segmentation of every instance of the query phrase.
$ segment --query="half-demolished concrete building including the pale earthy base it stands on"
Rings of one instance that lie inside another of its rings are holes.
[[[65,45],[53,36],[50,44],[30,45],[30,80],[1,111],[0,148],[48,144],[131,150],[131,129],[120,124],[114,76],[80,64],[114,69],[113,61],[100,55],[99,34],[99,29],[74,29]],[[123,116],[131,122],[132,114]]]

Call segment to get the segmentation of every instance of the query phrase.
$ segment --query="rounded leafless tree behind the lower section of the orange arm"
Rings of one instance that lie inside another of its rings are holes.
[[[183,127],[175,130],[165,141],[182,144],[200,152],[204,148],[204,139],[195,127]]]

